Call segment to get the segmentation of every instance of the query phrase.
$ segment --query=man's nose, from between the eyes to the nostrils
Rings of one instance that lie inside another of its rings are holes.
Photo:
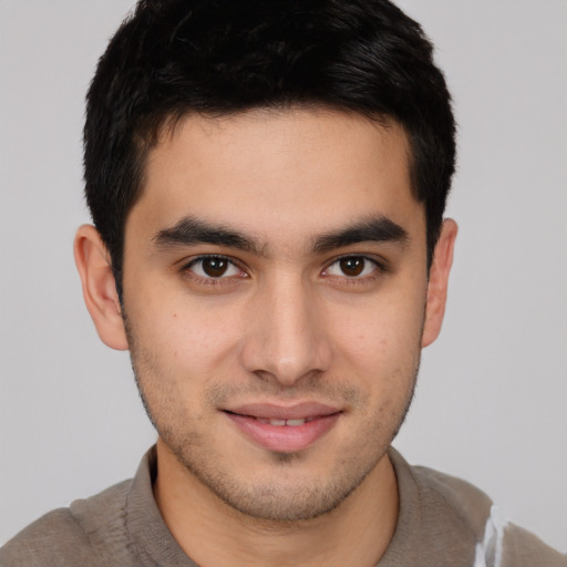
[[[249,372],[293,386],[329,368],[331,348],[316,296],[292,277],[258,290],[241,351]]]

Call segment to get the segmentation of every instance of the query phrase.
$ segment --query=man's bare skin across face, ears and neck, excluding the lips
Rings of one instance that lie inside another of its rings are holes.
[[[187,117],[151,152],[127,217],[122,307],[104,245],[80,228],[87,308],[106,344],[130,348],[159,434],[156,502],[199,565],[372,566],[388,547],[386,449],[441,329],[456,236],[445,220],[427,274],[408,156],[400,126],[353,113]],[[247,246],[177,238],[187,218]],[[317,246],[375,219],[403,238]],[[291,451],[259,445],[227,413],[306,402],[337,416]]]

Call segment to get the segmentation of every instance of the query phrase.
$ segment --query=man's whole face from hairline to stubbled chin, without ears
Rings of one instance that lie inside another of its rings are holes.
[[[377,467],[417,372],[423,206],[395,124],[189,117],[148,157],[124,313],[161,441],[231,507],[300,519]]]

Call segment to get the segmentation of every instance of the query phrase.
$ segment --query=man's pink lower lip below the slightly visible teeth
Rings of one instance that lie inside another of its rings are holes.
[[[316,417],[302,425],[270,425],[247,415],[228,412],[225,414],[257,445],[278,453],[292,453],[307,449],[322,437],[340,416],[340,413],[333,413]]]

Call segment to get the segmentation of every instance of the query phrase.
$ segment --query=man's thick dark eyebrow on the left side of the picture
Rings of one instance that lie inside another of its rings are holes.
[[[213,244],[249,251],[261,256],[257,240],[223,225],[205,223],[195,217],[185,217],[174,226],[159,230],[152,239],[158,250],[196,244]]]

